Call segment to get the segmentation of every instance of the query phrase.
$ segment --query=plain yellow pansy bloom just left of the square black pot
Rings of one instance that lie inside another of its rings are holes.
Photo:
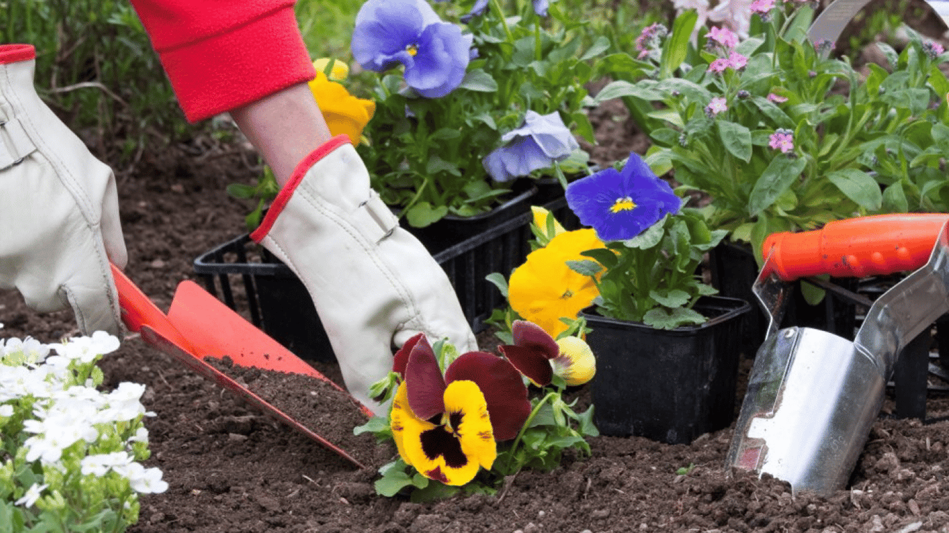
[[[593,280],[571,270],[567,262],[589,259],[580,252],[604,246],[596,231],[587,229],[565,231],[530,252],[508,282],[512,309],[556,338],[567,330],[561,317],[575,319],[599,294]]]

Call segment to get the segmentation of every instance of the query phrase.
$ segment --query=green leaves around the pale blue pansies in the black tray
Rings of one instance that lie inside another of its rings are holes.
[[[471,5],[436,7],[458,16]],[[534,14],[530,2],[516,8],[519,16],[506,18],[510,13],[499,12],[495,1],[468,23],[478,57],[451,94],[419,98],[403,87],[399,73],[377,78],[371,97],[376,113],[365,130],[369,143],[359,152],[373,188],[411,226],[428,226],[448,214],[472,216],[496,205],[509,189],[493,182],[482,160],[500,147],[505,133],[522,125],[528,110],[558,112],[571,131],[593,141],[583,112],[591,103],[585,85],[599,75],[591,63],[608,41],[586,46],[578,36],[584,25],[553,6],[547,19]]]

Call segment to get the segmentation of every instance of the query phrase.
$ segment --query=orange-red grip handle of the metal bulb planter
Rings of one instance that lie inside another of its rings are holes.
[[[863,278],[922,267],[949,221],[945,213],[878,214],[828,222],[821,230],[773,233],[762,254],[784,281],[817,274]],[[766,267],[768,268],[768,267]]]

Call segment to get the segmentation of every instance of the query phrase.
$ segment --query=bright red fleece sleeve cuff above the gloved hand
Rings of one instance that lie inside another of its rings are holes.
[[[189,121],[316,76],[295,0],[131,0]]]

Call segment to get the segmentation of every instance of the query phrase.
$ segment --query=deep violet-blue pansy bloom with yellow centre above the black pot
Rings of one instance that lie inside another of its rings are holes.
[[[624,241],[679,212],[682,199],[642,157],[630,154],[622,172],[608,168],[570,183],[567,205],[600,240]]]

